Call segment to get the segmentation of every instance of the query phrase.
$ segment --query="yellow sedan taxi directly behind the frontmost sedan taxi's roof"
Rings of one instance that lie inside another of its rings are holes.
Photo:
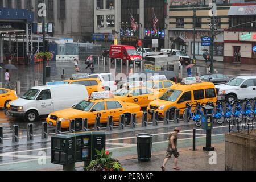
[[[147,107],[150,102],[162,96],[163,92],[147,88],[144,86],[143,81],[135,81],[128,82],[127,86],[124,86],[113,94],[117,100]]]

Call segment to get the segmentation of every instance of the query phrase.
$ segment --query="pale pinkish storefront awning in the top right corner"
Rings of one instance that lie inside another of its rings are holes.
[[[256,15],[256,5],[231,6],[228,15]]]

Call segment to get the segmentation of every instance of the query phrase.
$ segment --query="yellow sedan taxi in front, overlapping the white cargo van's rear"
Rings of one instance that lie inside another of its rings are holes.
[[[113,116],[113,122],[119,121],[120,115],[125,115],[125,125],[129,125],[131,114],[142,117],[141,107],[133,103],[125,103],[113,97],[109,91],[93,92],[90,98],[81,101],[71,109],[56,111],[48,115],[47,123],[56,126],[56,121],[61,121],[62,128],[69,127],[69,121],[75,120],[76,130],[81,130],[82,119],[88,119],[88,125],[95,122],[96,117],[100,117],[101,123],[106,123],[108,116]]]

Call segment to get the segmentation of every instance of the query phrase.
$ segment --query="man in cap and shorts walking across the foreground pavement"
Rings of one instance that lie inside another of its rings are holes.
[[[180,132],[180,129],[176,127],[174,129],[174,132],[168,135],[169,144],[166,152],[166,158],[164,159],[163,166],[161,166],[162,171],[166,171],[165,166],[168,160],[171,159],[172,155],[174,155],[173,169],[180,170],[180,168],[177,167],[177,162],[178,162],[177,158],[179,158],[180,156],[179,152],[177,151],[177,135],[179,134],[179,132]]]

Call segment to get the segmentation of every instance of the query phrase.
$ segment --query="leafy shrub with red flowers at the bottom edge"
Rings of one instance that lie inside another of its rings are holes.
[[[96,150],[96,160],[92,160],[89,166],[85,168],[86,171],[124,171],[124,168],[118,160],[111,158],[112,152]]]

